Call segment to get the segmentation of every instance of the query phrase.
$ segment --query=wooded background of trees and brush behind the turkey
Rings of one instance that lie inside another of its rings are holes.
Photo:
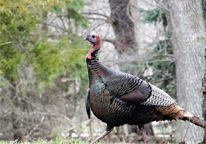
[[[202,117],[205,1],[0,0],[0,140],[72,137],[88,142],[105,124],[86,116],[89,31],[102,38],[100,60],[165,90]],[[147,125],[151,143],[206,140],[188,122]],[[110,142],[142,142],[136,126]]]

